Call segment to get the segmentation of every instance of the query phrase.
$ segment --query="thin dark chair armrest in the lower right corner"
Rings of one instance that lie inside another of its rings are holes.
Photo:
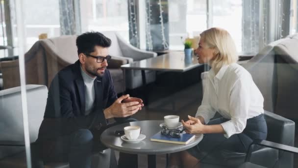
[[[249,145],[247,156],[245,158],[245,162],[249,161],[250,155],[251,155],[251,148],[254,144],[264,146],[264,147],[270,147],[270,148],[273,148],[273,149],[282,150],[282,151],[286,151],[286,152],[290,152],[290,153],[298,153],[298,148],[297,147],[284,145],[284,144],[280,144],[280,143],[275,143],[275,142],[268,141],[268,140],[254,140]]]

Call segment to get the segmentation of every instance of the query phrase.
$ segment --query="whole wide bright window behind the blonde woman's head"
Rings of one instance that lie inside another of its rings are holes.
[[[242,0],[169,0],[169,23],[170,49],[183,49],[181,37],[220,27],[231,33],[242,51]]]

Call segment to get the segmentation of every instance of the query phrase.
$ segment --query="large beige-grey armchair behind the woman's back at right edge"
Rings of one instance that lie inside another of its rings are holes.
[[[264,96],[264,109],[298,119],[298,34],[268,44],[243,64]]]

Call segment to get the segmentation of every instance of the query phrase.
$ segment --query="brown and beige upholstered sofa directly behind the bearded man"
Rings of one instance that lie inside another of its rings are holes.
[[[76,35],[65,35],[37,41],[25,54],[26,84],[50,86],[55,74],[78,59]],[[117,93],[125,91],[124,73],[120,66],[127,59],[112,57],[108,65]],[[20,86],[19,59],[0,62],[3,89]]]

